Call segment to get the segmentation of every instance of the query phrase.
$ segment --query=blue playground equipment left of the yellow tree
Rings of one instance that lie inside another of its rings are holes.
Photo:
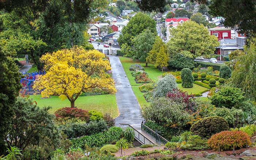
[[[22,83],[24,89],[27,88],[27,86],[29,86],[29,91],[30,91],[30,87],[33,85],[33,82],[37,79],[37,77],[39,75],[45,75],[45,71],[44,72],[35,71],[35,72],[32,72],[32,73],[22,73],[22,75],[25,76],[25,78],[22,78],[20,80],[20,83]],[[24,91],[24,89],[23,89],[23,91]]]

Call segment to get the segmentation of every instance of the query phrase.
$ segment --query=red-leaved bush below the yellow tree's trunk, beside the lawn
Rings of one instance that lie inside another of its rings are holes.
[[[57,122],[65,125],[68,122],[85,122],[88,123],[90,120],[90,114],[86,110],[79,108],[64,107],[57,110],[55,113]]]

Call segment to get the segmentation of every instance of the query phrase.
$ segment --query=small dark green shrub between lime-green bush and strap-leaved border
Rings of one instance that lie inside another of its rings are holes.
[[[108,125],[105,121],[90,121],[88,124],[89,135],[97,134],[103,132],[104,130],[108,130]]]

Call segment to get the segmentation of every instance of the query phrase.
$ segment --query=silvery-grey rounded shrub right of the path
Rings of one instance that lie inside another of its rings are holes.
[[[176,79],[173,75],[168,74],[157,81],[152,98],[165,97],[168,92],[173,91],[173,88],[177,88]]]

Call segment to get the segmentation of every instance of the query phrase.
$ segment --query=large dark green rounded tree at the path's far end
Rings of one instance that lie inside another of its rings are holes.
[[[157,34],[155,29],[156,22],[150,16],[143,14],[142,12],[137,13],[122,30],[122,35],[118,38],[120,46],[123,43],[127,43],[132,46],[132,39],[142,33],[144,29],[149,29],[151,33]]]

